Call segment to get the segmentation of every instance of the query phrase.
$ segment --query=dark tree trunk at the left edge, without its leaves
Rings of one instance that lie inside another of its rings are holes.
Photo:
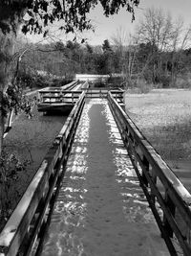
[[[15,10],[14,10],[15,8]],[[0,155],[4,135],[4,93],[11,82],[11,64],[14,52],[14,40],[21,17],[26,9],[18,10],[18,6],[0,3]]]

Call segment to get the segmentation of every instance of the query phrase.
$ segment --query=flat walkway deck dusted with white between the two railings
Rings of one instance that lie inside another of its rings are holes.
[[[83,109],[42,255],[169,255],[106,100]]]

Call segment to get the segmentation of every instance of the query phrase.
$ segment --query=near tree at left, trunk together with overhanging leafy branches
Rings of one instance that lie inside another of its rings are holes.
[[[98,3],[106,16],[126,8],[135,19],[134,8],[139,0],[1,0],[0,2],[0,154],[4,133],[4,94],[11,82],[11,58],[13,41],[21,23],[23,33],[47,35],[47,26],[53,21],[62,20],[60,30],[65,33],[84,31],[92,28],[87,13]],[[45,29],[44,29],[45,28]]]

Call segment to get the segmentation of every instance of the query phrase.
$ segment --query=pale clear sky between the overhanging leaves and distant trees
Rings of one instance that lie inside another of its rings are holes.
[[[87,42],[91,45],[101,45],[105,39],[112,41],[112,36],[117,35],[119,28],[125,31],[127,34],[134,33],[138,24],[138,20],[141,18],[142,13],[147,8],[161,8],[164,12],[170,12],[174,19],[181,16],[185,25],[191,24],[191,0],[140,0],[138,9],[135,8],[136,21],[132,23],[131,13],[121,10],[116,15],[105,17],[102,13],[102,8],[97,6],[95,10],[90,13],[90,18],[93,25],[96,28],[95,33],[87,32],[79,37],[87,38]],[[57,31],[58,24],[54,25],[52,31]],[[72,37],[70,35],[52,34],[52,40],[62,40],[65,42]],[[43,42],[41,36],[28,35],[29,40],[32,42]],[[49,39],[50,40],[50,39]]]

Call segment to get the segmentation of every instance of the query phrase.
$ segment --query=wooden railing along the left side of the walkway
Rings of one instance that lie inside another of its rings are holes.
[[[0,234],[0,255],[30,255],[39,241],[52,209],[64,166],[74,139],[74,132],[85,103],[82,92],[64,127],[53,141],[27,191]]]

